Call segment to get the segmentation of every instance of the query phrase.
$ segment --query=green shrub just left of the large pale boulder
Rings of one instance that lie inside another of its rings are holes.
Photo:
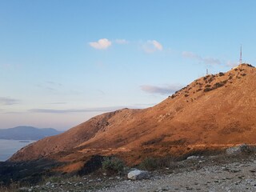
[[[124,166],[124,162],[115,157],[105,157],[102,161],[102,169],[110,172],[122,173]]]

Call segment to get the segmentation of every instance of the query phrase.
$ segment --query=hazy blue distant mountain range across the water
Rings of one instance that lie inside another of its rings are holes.
[[[9,129],[0,129],[0,139],[39,140],[61,133],[62,131],[52,128],[39,129],[33,126],[16,126]]]

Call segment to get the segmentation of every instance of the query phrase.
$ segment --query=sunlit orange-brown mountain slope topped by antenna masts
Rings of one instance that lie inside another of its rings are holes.
[[[19,150],[10,162],[40,158],[82,169],[93,155],[116,155],[134,165],[146,157],[180,156],[240,143],[256,144],[256,69],[242,64],[209,74],[158,105],[98,115]]]

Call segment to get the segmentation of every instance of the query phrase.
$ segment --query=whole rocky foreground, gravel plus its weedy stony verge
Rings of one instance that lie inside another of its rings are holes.
[[[57,180],[57,181],[56,181]],[[255,191],[256,155],[191,156],[173,162],[162,170],[150,172],[150,178],[129,180],[126,175],[86,175],[82,178],[55,178],[41,186],[19,191]]]

